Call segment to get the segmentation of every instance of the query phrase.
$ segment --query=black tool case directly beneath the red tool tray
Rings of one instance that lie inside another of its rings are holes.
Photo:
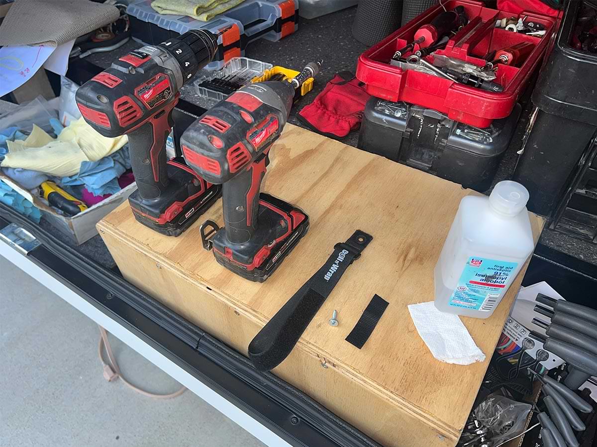
[[[479,129],[438,111],[371,98],[365,105],[358,148],[486,191],[512,139],[521,106]]]

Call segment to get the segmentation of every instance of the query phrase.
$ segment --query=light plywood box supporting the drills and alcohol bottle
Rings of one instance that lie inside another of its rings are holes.
[[[462,318],[487,355],[437,361],[407,305],[433,299],[433,268],[460,185],[287,125],[263,191],[310,216],[310,229],[265,283],[222,268],[199,224],[222,225],[221,201],[178,238],[138,224],[123,204],[98,224],[128,281],[246,355],[266,322],[355,229],[373,242],[343,275],[290,356],[273,373],[386,446],[453,446],[463,429],[526,266],[488,319]],[[543,221],[531,214],[535,240]],[[344,341],[374,294],[390,304],[362,349]],[[328,320],[334,309],[339,325]]]

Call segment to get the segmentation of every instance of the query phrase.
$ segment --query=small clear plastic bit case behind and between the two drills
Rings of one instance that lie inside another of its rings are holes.
[[[221,101],[228,97],[230,94],[224,94],[221,91],[217,91],[213,88],[208,88],[205,83],[214,81],[216,79],[224,79],[231,76],[236,76],[233,82],[238,82],[238,77],[242,75],[242,82],[238,82],[239,85],[244,86],[253,82],[255,77],[261,77],[265,74],[266,70],[273,67],[272,64],[267,64],[255,59],[248,57],[235,57],[230,59],[224,68],[219,70],[210,76],[201,76],[195,80],[195,86],[197,88],[197,94],[202,98],[209,98],[211,100]]]

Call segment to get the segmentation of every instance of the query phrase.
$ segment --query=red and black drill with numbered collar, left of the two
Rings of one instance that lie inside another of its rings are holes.
[[[182,157],[166,161],[166,139],[180,88],[213,58],[218,36],[191,30],[147,45],[112,63],[84,83],[76,103],[84,119],[104,136],[128,135],[137,191],[133,215],[149,228],[178,236],[217,198],[219,185],[196,175]]]

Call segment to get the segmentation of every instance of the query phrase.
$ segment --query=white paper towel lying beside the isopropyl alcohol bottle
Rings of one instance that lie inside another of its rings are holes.
[[[438,311],[433,301],[411,304],[408,312],[421,339],[439,361],[470,365],[485,360],[485,354],[475,344],[458,315]]]

